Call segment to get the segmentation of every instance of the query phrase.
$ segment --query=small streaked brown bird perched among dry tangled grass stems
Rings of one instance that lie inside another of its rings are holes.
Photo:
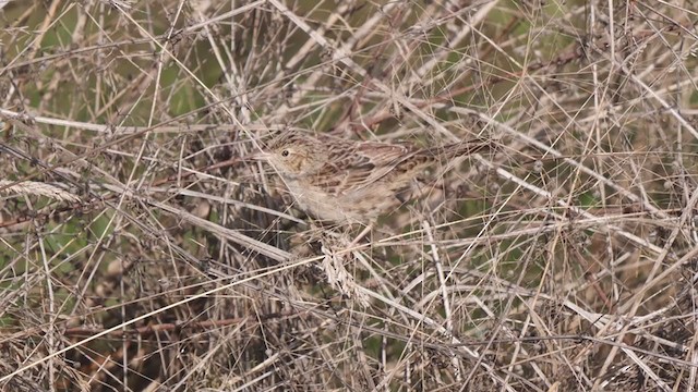
[[[488,140],[416,148],[284,131],[255,158],[269,162],[299,207],[337,223],[371,221],[400,205],[398,195],[437,161],[489,148]]]

